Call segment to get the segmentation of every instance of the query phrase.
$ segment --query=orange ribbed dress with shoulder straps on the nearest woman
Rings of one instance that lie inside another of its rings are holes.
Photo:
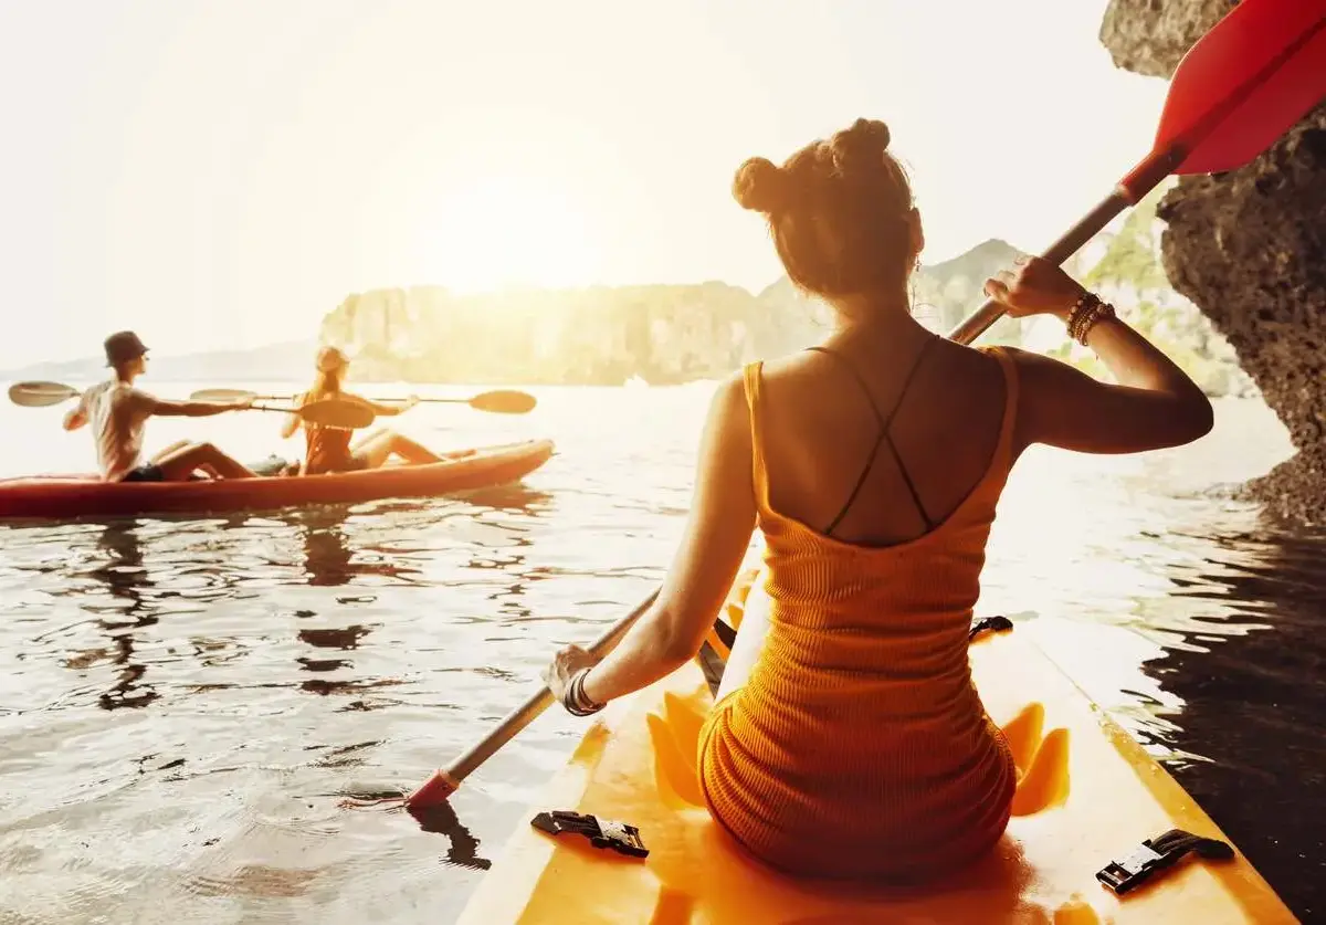
[[[700,735],[715,819],[766,864],[918,881],[976,860],[1008,826],[1016,769],[967,657],[985,541],[1012,465],[1017,368],[984,477],[937,527],[866,547],[769,506],[760,372],[745,368],[769,628],[745,686]]]

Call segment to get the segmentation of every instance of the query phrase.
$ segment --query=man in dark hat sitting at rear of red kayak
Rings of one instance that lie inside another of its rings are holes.
[[[253,404],[240,402],[164,402],[134,387],[134,379],[147,370],[147,346],[133,331],[106,338],[106,366],[113,379],[82,394],[78,406],[65,415],[65,429],[91,424],[97,441],[97,465],[107,482],[178,482],[196,472],[212,478],[252,478],[243,464],[210,443],[182,440],[143,461],[143,428],[154,415],[206,417],[240,411]]]

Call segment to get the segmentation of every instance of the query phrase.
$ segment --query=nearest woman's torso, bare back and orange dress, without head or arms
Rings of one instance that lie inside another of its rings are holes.
[[[902,375],[875,378],[830,350],[745,372],[770,626],[745,686],[711,716],[701,779],[719,820],[780,867],[923,879],[993,844],[1013,794],[967,632],[1013,459],[1017,372],[1004,354],[926,343]],[[934,404],[969,408],[987,452],[945,459]]]

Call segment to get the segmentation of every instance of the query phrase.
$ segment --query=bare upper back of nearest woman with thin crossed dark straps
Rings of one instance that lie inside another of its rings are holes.
[[[1000,363],[937,337],[825,349],[761,370],[773,506],[849,543],[914,539],[989,468],[1005,411]]]

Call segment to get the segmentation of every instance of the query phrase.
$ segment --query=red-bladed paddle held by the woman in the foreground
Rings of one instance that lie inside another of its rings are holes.
[[[1128,205],[1174,172],[1225,171],[1252,160],[1326,95],[1326,0],[1244,0],[1184,56],[1170,83],[1155,146],[1109,199],[1042,256],[1062,264]],[[949,335],[976,339],[1004,313],[993,299]],[[606,655],[654,603],[618,620],[590,651]],[[548,688],[512,710],[483,739],[406,798],[446,800],[484,761],[552,705]]]

